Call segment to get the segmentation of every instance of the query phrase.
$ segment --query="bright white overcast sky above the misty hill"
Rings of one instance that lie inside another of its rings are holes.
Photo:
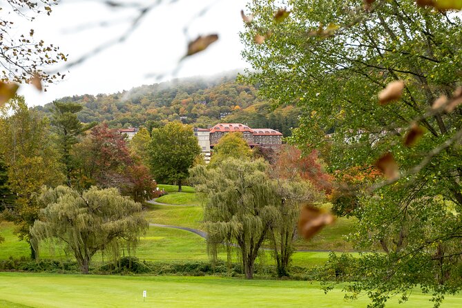
[[[139,0],[139,3],[152,1],[155,0]],[[26,97],[29,106],[35,106],[64,96],[115,93],[169,80],[179,59],[186,53],[188,40],[211,33],[218,33],[220,39],[204,52],[185,59],[177,77],[211,75],[248,66],[240,56],[242,44],[238,37],[238,32],[244,27],[240,10],[245,8],[247,0],[167,2],[171,0],[163,0],[164,4],[146,15],[123,44],[90,57],[68,72],[61,71],[66,74],[64,81],[50,85],[46,93],[23,85],[19,94]],[[196,17],[207,7],[206,14]],[[39,16],[32,23],[21,21],[20,28],[26,31],[34,28],[35,39],[44,39],[46,44],[59,46],[69,55],[69,61],[73,61],[119,37],[129,26],[124,20],[133,17],[133,12],[127,8],[110,9],[97,0],[64,0],[53,8],[51,16]],[[117,21],[117,24],[106,28],[91,26],[102,21]],[[188,37],[183,32],[186,25],[189,25]],[[150,74],[164,74],[164,77],[157,80],[147,77]]]

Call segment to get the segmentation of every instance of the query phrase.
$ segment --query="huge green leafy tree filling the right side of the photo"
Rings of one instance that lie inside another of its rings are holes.
[[[360,258],[352,296],[383,307],[418,285],[439,305],[462,288],[461,19],[410,0],[365,2],[252,1],[247,81],[302,108],[291,142],[328,147],[331,172],[375,163],[388,176],[347,189],[356,249],[385,251]],[[392,81],[395,102],[383,99]]]

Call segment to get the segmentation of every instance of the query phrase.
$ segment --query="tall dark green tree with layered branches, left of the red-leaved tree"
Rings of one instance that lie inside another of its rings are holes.
[[[53,115],[52,115],[52,126],[55,126],[59,136],[59,148],[61,151],[61,162],[66,167],[65,174],[67,183],[70,186],[72,180],[72,173],[75,169],[73,157],[70,153],[71,148],[74,144],[77,144],[77,137],[88,131],[96,125],[96,123],[90,123],[88,125],[81,124],[77,113],[82,110],[83,106],[76,103],[63,103],[53,102]]]

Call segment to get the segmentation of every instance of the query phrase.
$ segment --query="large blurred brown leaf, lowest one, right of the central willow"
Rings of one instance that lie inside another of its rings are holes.
[[[327,213],[309,204],[302,207],[298,219],[298,233],[308,240],[318,233],[323,227],[333,223],[334,215]]]

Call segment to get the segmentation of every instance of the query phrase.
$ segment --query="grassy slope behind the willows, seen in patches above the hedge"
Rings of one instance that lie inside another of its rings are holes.
[[[194,193],[190,193],[195,196]],[[172,193],[171,195],[175,195]],[[149,205],[146,211],[146,218],[149,222],[156,224],[170,224],[173,226],[191,227],[202,229],[202,206],[158,206]],[[342,235],[351,230],[352,220],[340,218],[336,224],[325,228],[315,238],[307,242],[298,240],[298,249],[349,249],[343,242]],[[0,244],[0,260],[5,260],[10,256],[14,258],[28,257],[29,248],[26,242],[19,242],[17,237],[12,234],[12,224],[0,224],[0,234],[6,239]],[[142,260],[151,261],[180,261],[180,260],[201,260],[206,261],[206,243],[200,236],[178,229],[167,229],[151,227],[146,237],[141,238],[139,247],[135,255]],[[327,260],[327,252],[297,252],[293,255],[293,264],[300,266],[320,265]],[[56,249],[51,253],[46,245],[41,248],[42,258],[68,259],[62,249]],[[224,253],[220,258],[225,260]],[[101,258],[95,256],[95,263]],[[272,264],[271,253],[266,253],[262,258],[266,264]]]

